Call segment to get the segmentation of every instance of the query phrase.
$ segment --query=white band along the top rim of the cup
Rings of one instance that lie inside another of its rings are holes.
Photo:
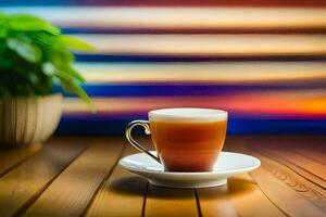
[[[173,122],[220,122],[227,119],[227,112],[212,108],[162,108],[149,113],[150,120],[173,120]]]

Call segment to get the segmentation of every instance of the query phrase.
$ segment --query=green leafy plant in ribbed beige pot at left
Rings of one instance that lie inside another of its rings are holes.
[[[0,13],[0,148],[34,144],[53,133],[62,114],[62,94],[53,92],[54,86],[95,110],[71,53],[90,49],[39,17]]]

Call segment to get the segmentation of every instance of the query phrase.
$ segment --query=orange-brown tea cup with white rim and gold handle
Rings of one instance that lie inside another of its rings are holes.
[[[135,126],[142,126],[151,133],[158,156],[133,139]],[[210,171],[224,145],[226,127],[226,111],[163,108],[149,112],[149,122],[131,122],[126,137],[135,148],[160,162],[166,171]]]

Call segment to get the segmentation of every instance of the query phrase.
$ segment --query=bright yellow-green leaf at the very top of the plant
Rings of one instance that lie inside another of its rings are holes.
[[[28,14],[11,15],[9,17],[9,27],[22,31],[45,30],[53,35],[60,34],[60,29],[51,26],[47,21]]]

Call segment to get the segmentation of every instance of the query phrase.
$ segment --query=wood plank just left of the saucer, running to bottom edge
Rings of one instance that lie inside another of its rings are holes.
[[[121,156],[121,138],[95,139],[27,209],[26,216],[80,216]],[[68,188],[67,188],[68,187]]]

